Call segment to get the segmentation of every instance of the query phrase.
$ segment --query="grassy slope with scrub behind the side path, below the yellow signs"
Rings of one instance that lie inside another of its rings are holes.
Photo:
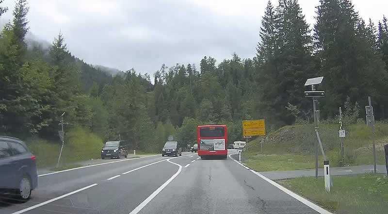
[[[344,143],[345,162],[343,165],[373,164],[372,132],[364,124],[348,127],[347,137],[338,137],[337,124],[322,124],[319,132],[326,158],[332,167],[341,166],[340,143]],[[388,144],[388,124],[378,123],[375,128],[376,162],[385,164],[383,144]],[[242,161],[258,171],[296,170],[314,168],[315,144],[317,142],[312,125],[285,126],[265,136],[260,147],[260,138],[248,143],[248,151],[243,151]],[[319,150],[319,165],[323,157]]]

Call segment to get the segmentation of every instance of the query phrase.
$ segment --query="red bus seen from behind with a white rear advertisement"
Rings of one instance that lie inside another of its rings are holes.
[[[201,159],[207,157],[227,158],[226,125],[203,125],[197,130],[198,155]]]

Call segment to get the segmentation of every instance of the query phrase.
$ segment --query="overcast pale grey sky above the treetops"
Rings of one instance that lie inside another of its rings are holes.
[[[28,0],[30,32],[52,42],[61,31],[72,54],[94,65],[153,74],[162,63],[217,62],[233,52],[255,55],[267,0]],[[272,1],[275,5],[277,0]],[[315,23],[319,0],[299,0]],[[353,0],[359,15],[377,24],[388,0]],[[14,0],[4,0],[12,19]]]

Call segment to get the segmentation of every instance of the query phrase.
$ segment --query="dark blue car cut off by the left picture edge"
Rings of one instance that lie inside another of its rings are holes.
[[[0,136],[0,192],[27,200],[37,186],[35,156],[21,140]]]

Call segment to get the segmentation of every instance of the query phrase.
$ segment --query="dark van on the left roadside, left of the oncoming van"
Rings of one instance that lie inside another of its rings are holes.
[[[101,159],[128,157],[128,141],[108,141],[101,149]]]

